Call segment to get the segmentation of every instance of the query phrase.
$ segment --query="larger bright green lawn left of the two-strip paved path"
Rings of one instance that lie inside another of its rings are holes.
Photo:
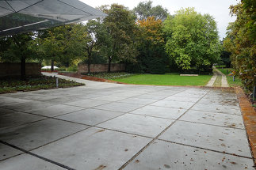
[[[180,76],[179,74],[139,74],[112,79],[134,85],[206,85],[212,75]]]

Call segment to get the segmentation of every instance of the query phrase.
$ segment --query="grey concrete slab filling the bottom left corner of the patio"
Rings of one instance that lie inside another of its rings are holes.
[[[41,160],[37,157],[33,157],[29,154],[22,154],[20,156],[13,157],[5,161],[1,161],[0,169],[1,170],[16,170],[16,169],[65,170],[66,168],[61,168],[55,164]]]

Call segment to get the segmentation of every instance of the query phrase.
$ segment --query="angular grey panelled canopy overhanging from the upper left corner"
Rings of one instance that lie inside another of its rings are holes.
[[[0,0],[0,36],[105,16],[78,0]]]

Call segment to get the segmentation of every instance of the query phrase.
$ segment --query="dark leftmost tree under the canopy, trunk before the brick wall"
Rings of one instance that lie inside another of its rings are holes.
[[[21,62],[21,80],[25,80],[26,59],[35,57],[32,47],[32,32],[6,36],[0,40],[0,61]]]

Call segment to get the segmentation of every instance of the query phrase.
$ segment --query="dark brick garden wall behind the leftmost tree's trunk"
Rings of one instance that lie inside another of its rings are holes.
[[[26,76],[40,76],[41,64],[36,62],[26,63]],[[0,62],[0,77],[16,77],[21,76],[20,62]]]

